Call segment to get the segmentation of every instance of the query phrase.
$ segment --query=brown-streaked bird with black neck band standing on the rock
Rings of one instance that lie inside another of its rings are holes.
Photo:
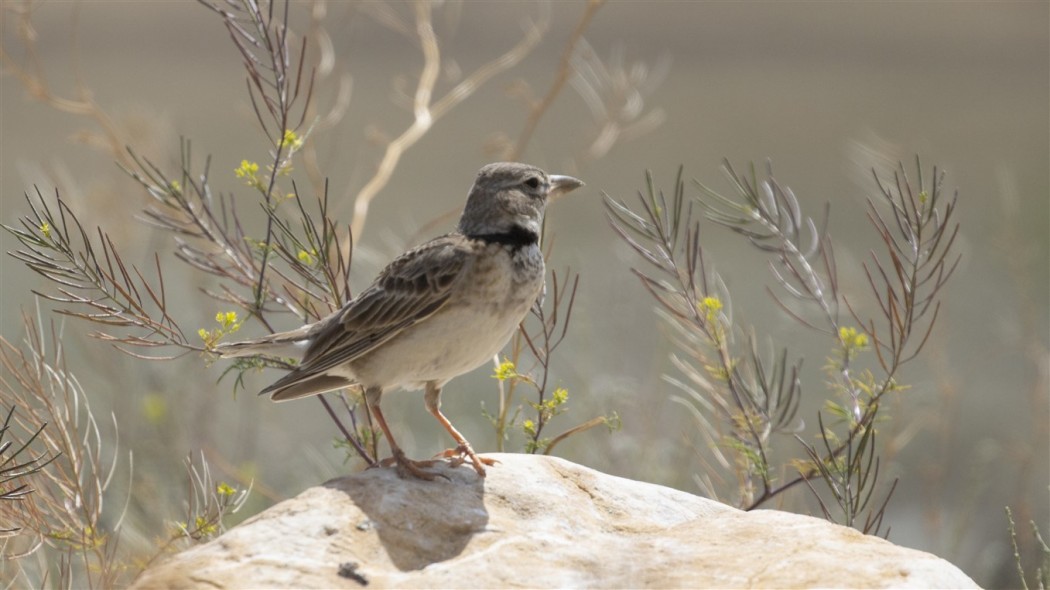
[[[456,229],[395,258],[357,297],[290,332],[216,346],[225,358],[279,356],[298,365],[260,392],[288,401],[358,388],[386,438],[401,477],[433,480],[438,458],[469,461],[479,477],[495,461],[478,457],[441,412],[445,384],[494,358],[545,291],[540,249],[551,198],[584,186],[536,166],[500,162],[478,171]],[[383,415],[386,392],[423,389],[426,409],[456,441],[428,461],[408,459]]]

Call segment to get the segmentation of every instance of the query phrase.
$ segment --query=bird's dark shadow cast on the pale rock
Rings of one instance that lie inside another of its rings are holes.
[[[375,530],[398,569],[418,570],[456,557],[488,525],[483,478],[467,466],[443,462],[428,470],[448,479],[401,479],[394,469],[377,468],[324,487],[350,496],[368,517],[357,528]]]

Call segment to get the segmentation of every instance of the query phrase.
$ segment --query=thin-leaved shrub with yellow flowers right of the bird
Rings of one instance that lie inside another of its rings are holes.
[[[883,397],[906,388],[897,378],[900,367],[929,338],[941,290],[959,266],[952,251],[959,232],[952,219],[957,197],[945,199],[944,177],[936,168],[928,187],[922,165],[917,168],[915,183],[903,165],[889,183],[876,176],[880,195],[868,201],[868,218],[884,247],[881,256],[873,252],[870,264],[864,264],[880,312],[874,318],[860,316],[839,291],[830,206],[819,225],[803,215],[794,192],[773,177],[772,166],[759,182],[753,167],[739,174],[727,162],[735,197],[697,183],[706,196],[697,203],[707,216],[771,256],[770,270],[780,289],[770,291],[774,301],[798,323],[832,340],[824,365],[832,395],[824,408],[834,422],[825,426],[823,414],[817,414],[816,444],[803,437],[805,425],[798,419],[802,360],[789,363],[788,347],[774,352],[772,341],[763,355],[756,331],[734,324],[726,282],[705,261],[700,225],[692,217],[692,203],[686,206],[681,171],[670,199],[647,175],[640,213],[606,197],[616,233],[658,271],[655,276],[638,269],[634,273],[659,303],[659,315],[682,353],[673,360],[685,379],[671,381],[686,395],[672,399],[691,410],[714,451],[717,463],[697,476],[709,497],[731,493],[732,503],[750,510],[804,483],[826,519],[879,533],[897,485],[895,481],[881,500],[875,496],[881,463],[877,424],[886,420],[880,414]],[[814,308],[818,319],[807,319],[804,307]],[[881,374],[857,366],[869,350],[876,359],[868,364]],[[795,456],[779,454],[795,473],[773,463],[774,441],[784,435],[802,447]],[[735,484],[716,483],[726,482],[727,472],[735,476]],[[834,515],[831,502],[815,487],[821,484],[834,501]]]

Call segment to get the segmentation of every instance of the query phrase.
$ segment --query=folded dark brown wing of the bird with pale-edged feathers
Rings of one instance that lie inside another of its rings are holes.
[[[391,262],[376,281],[312,335],[298,367],[268,387],[276,391],[312,379],[364,355],[422,321],[447,301],[470,260],[458,234],[433,239]]]

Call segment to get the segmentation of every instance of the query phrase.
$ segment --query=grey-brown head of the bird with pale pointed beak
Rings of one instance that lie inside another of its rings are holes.
[[[583,185],[527,164],[489,164],[478,171],[459,230],[465,235],[526,230],[539,236],[547,202]]]

